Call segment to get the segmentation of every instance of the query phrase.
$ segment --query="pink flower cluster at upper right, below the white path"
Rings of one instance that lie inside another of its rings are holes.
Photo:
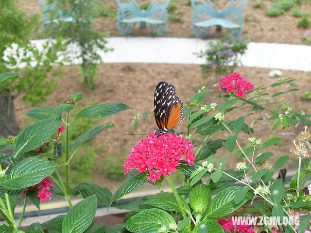
[[[248,83],[244,76],[241,76],[239,73],[230,73],[224,78],[221,78],[220,82],[218,83],[219,86],[217,90],[223,91],[223,95],[228,92],[232,94],[236,94],[238,97],[244,97],[244,94],[253,88],[252,83]],[[223,89],[225,89],[225,91]]]

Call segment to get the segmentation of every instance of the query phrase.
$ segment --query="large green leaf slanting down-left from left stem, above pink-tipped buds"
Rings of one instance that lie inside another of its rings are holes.
[[[18,134],[13,157],[18,158],[24,153],[42,146],[61,125],[61,119],[49,118],[29,126]]]

